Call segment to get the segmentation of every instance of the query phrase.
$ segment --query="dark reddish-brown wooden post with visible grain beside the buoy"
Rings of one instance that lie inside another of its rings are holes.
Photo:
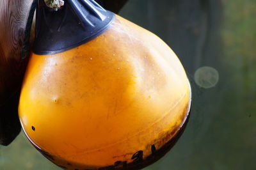
[[[19,91],[28,59],[20,58],[32,0],[0,1],[0,144],[20,132]]]

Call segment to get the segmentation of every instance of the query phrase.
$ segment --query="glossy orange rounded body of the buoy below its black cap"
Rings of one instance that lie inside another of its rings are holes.
[[[172,49],[115,17],[79,47],[31,55],[20,121],[31,143],[63,168],[136,169],[188,116],[190,86]]]

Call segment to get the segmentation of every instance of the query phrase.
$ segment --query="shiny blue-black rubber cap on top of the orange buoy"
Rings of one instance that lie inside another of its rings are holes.
[[[58,11],[38,0],[35,54],[56,54],[101,35],[115,18],[93,0],[65,0]]]

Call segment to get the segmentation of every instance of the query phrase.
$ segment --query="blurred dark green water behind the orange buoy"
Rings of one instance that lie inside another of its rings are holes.
[[[160,36],[193,88],[188,126],[145,170],[256,169],[256,1],[130,0],[121,16]],[[20,134],[0,169],[60,169]]]

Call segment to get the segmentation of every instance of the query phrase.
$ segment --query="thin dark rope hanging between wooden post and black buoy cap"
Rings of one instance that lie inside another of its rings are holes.
[[[26,58],[28,56],[28,52],[30,50],[29,39],[30,39],[31,27],[32,27],[33,18],[34,18],[37,4],[38,4],[38,0],[33,0],[33,3],[31,4],[31,8],[30,8],[29,15],[28,15],[28,22],[26,24],[26,29],[25,29],[23,45],[20,50],[21,59]]]

